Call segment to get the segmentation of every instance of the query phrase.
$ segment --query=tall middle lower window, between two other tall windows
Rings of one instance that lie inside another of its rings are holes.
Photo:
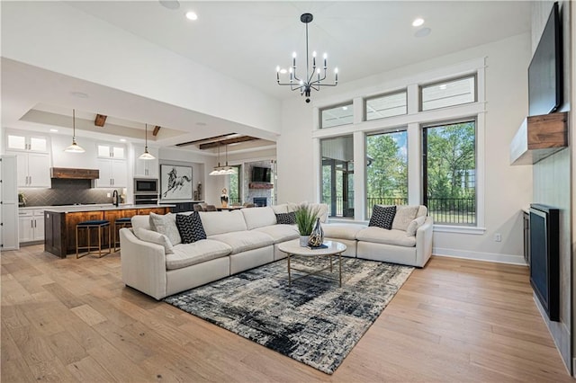
[[[366,217],[376,204],[408,204],[406,130],[366,136]]]

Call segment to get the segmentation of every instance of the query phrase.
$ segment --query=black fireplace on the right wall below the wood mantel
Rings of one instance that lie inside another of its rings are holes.
[[[552,321],[560,320],[559,211],[530,206],[530,284]]]

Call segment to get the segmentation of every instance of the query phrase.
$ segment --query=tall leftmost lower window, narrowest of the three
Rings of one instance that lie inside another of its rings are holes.
[[[352,136],[320,140],[322,203],[330,217],[354,217],[354,141]]]

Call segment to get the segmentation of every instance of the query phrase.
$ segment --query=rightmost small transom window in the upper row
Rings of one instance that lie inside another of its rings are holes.
[[[421,110],[446,108],[476,101],[476,76],[468,76],[420,88]]]

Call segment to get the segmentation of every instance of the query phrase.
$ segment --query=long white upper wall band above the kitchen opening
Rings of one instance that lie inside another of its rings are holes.
[[[280,103],[272,97],[63,2],[3,2],[2,56],[257,129],[280,129]]]

